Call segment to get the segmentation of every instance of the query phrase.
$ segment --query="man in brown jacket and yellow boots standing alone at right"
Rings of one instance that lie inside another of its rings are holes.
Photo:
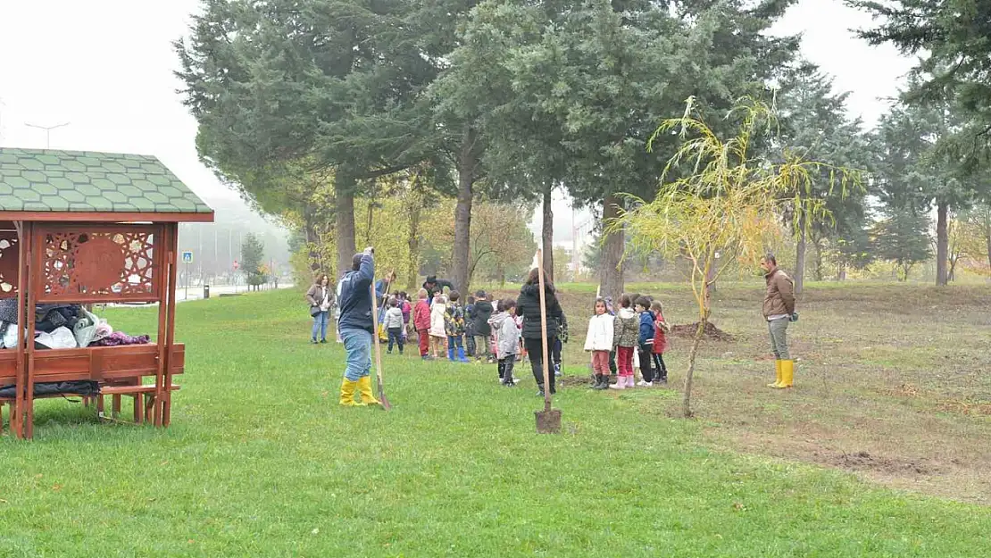
[[[778,269],[778,261],[767,255],[760,259],[767,291],[764,293],[764,319],[771,334],[777,381],[769,388],[791,388],[795,381],[795,361],[788,353],[788,323],[795,313],[795,284],[788,274]]]

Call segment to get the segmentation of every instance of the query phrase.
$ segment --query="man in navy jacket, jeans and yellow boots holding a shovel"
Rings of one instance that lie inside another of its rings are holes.
[[[372,392],[372,336],[375,323],[372,316],[372,281],[375,279],[374,249],[366,248],[351,259],[351,271],[338,284],[341,318],[337,327],[344,340],[347,362],[341,382],[341,404],[360,406],[379,404]],[[361,402],[355,401],[355,391]]]

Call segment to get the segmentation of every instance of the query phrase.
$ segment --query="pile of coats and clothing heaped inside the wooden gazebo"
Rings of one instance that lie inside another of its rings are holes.
[[[107,320],[97,317],[79,304],[38,304],[35,307],[35,320],[33,338],[36,349],[111,347],[151,342],[148,335],[132,337],[114,332]],[[0,349],[16,347],[17,299],[7,298],[0,300]]]

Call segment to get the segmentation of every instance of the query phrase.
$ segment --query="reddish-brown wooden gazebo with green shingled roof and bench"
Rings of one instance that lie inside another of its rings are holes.
[[[14,433],[31,438],[36,386],[80,380],[111,394],[114,410],[134,396],[136,422],[168,424],[172,376],[185,364],[174,338],[184,221],[212,222],[213,210],[154,157],[0,149],[0,299],[17,299],[8,327],[18,340],[0,350],[0,389],[16,388],[0,398],[0,428],[6,405]],[[114,302],[158,303],[156,342],[36,348],[39,304]]]

